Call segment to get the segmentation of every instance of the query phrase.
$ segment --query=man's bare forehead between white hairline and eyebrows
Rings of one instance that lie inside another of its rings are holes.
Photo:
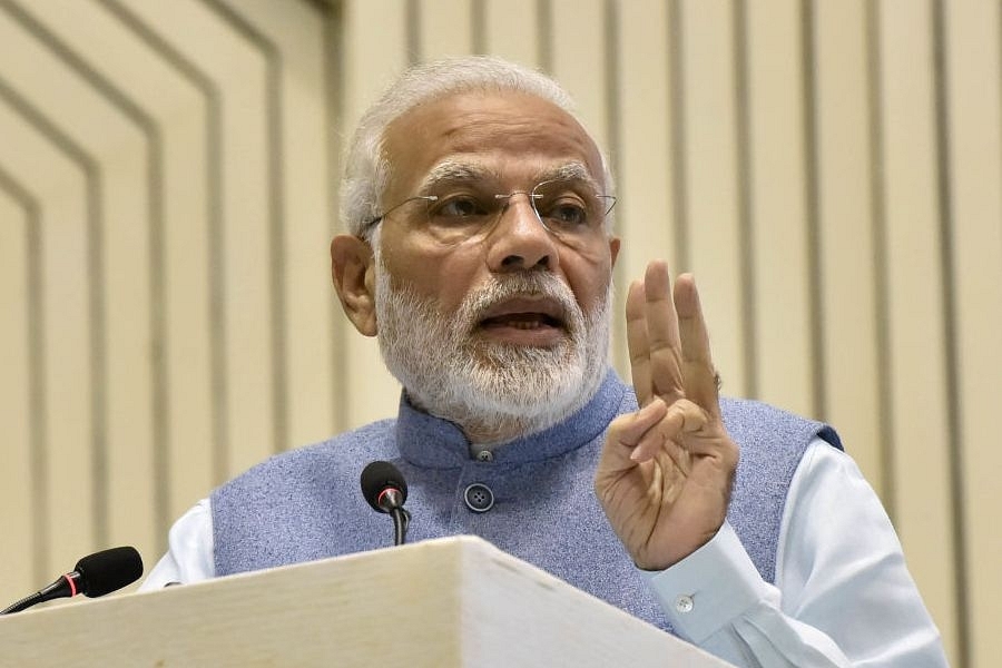
[[[595,141],[560,107],[532,95],[459,92],[423,104],[387,128],[389,191],[402,196],[444,164],[474,164],[512,187],[566,164],[584,165],[602,183]]]

